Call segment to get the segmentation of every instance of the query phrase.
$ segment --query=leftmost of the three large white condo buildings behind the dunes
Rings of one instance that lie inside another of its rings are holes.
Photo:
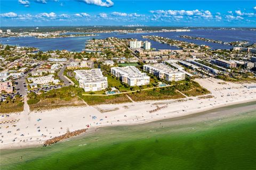
[[[76,70],[79,87],[84,91],[100,91],[108,88],[107,77],[103,77],[100,69]]]

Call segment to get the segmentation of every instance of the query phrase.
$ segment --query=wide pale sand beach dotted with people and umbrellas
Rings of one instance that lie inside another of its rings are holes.
[[[221,84],[224,81],[214,78],[196,81],[210,90],[214,97],[70,107],[30,113],[25,106],[22,113],[1,117],[1,121],[19,121],[1,124],[0,147],[11,149],[43,145],[45,140],[65,134],[67,130],[85,129],[87,125],[89,131],[93,131],[103,126],[140,124],[256,101],[256,88],[248,89],[239,83]]]

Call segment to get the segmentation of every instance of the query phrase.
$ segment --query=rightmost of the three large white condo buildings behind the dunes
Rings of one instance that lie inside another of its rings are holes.
[[[170,66],[163,63],[146,64],[143,66],[143,70],[166,81],[180,81],[186,78],[185,73],[175,71]]]

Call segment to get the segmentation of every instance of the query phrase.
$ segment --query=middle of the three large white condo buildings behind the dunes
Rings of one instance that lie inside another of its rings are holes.
[[[143,86],[149,84],[150,78],[135,66],[111,67],[111,74],[129,84],[129,86]]]

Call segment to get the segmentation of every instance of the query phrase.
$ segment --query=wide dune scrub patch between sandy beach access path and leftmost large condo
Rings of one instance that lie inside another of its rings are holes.
[[[28,94],[28,105],[31,111],[53,109],[67,106],[83,106],[83,100],[78,97],[82,89],[73,86],[54,89],[40,95],[30,92]]]

